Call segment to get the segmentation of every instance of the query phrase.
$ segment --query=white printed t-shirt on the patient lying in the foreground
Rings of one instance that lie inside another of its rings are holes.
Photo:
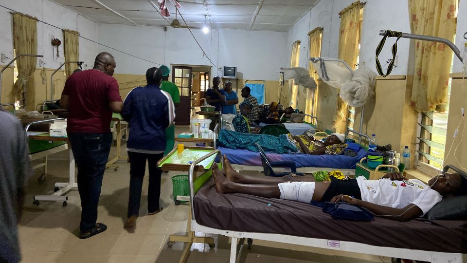
[[[425,214],[442,199],[437,191],[420,180],[366,180],[365,177],[359,176],[357,183],[361,200],[385,207],[403,208],[414,204]]]

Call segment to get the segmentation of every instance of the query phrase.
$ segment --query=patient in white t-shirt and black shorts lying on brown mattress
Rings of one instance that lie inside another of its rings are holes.
[[[224,173],[213,165],[219,193],[244,193],[303,203],[346,202],[365,207],[373,214],[408,221],[427,213],[443,197],[467,193],[467,179],[458,173],[445,173],[428,184],[407,180],[400,173],[387,173],[380,180],[360,176],[347,181],[314,182],[313,176],[262,177],[243,175],[234,170],[224,155]]]

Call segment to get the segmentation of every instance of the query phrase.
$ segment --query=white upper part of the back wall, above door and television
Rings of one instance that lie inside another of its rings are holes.
[[[285,32],[244,31],[233,29],[213,30],[203,34],[192,29],[199,44],[211,58],[222,66],[236,66],[248,79],[276,79],[282,65]],[[125,36],[122,38],[122,36]],[[126,53],[160,64],[211,65],[203,56],[188,29],[139,27],[118,24],[100,24],[99,41]],[[115,73],[144,74],[155,65],[126,54],[100,47],[117,60]],[[221,75],[214,72],[213,75]]]

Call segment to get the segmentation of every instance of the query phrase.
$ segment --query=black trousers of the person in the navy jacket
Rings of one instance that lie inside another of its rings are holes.
[[[139,215],[141,189],[146,172],[146,160],[149,168],[149,186],[147,188],[147,211],[155,212],[159,209],[159,198],[161,196],[161,174],[162,170],[157,167],[157,162],[164,153],[148,154],[128,151],[130,158],[130,193],[128,197],[128,217]]]

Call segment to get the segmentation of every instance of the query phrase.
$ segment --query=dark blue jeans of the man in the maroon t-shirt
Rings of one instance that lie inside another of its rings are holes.
[[[68,137],[78,167],[77,181],[82,208],[79,229],[84,233],[96,225],[97,204],[112,143],[112,133],[70,132]]]

